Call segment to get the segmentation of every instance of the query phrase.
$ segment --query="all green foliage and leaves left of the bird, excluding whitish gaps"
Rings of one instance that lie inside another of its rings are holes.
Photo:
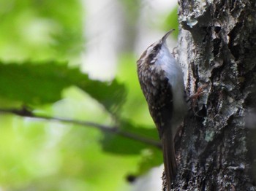
[[[140,1],[122,3],[135,25]],[[0,0],[0,109],[26,105],[158,140],[131,52],[110,82],[73,65],[86,48],[84,17],[79,0]],[[2,113],[0,140],[0,190],[129,190],[128,174],[162,163],[161,151],[142,141]]]

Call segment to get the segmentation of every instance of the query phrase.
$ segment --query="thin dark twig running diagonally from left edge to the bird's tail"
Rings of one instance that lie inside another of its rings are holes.
[[[121,130],[117,126],[108,126],[108,125],[101,125],[96,122],[71,120],[71,119],[61,118],[61,117],[49,117],[49,116],[38,115],[38,114],[34,114],[33,112],[29,111],[29,109],[27,109],[25,106],[23,106],[22,109],[0,109],[0,113],[15,114],[20,117],[29,117],[29,118],[40,119],[40,120],[49,120],[49,121],[59,121],[59,122],[71,123],[74,125],[81,125],[81,126],[86,126],[86,127],[91,127],[91,128],[97,128],[99,130],[102,130],[102,131],[105,131],[108,133],[116,133],[119,136],[123,136],[123,137],[129,138],[129,139],[143,142],[145,144],[150,144],[157,148],[161,148],[161,144],[159,143],[159,141],[155,141],[153,139],[148,139],[146,137],[139,136],[138,134],[135,134],[135,133],[129,133],[127,131]]]

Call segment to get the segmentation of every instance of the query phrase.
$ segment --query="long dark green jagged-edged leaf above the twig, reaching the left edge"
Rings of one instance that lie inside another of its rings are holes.
[[[0,96],[23,104],[50,104],[61,99],[64,88],[75,85],[99,101],[108,112],[116,113],[123,104],[126,90],[116,80],[89,79],[78,68],[56,62],[0,63]]]

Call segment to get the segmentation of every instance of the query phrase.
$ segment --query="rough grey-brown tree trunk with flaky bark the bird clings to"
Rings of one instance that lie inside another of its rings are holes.
[[[187,91],[192,95],[206,88],[176,142],[173,190],[256,190],[256,150],[249,147],[255,136],[246,128],[246,113],[256,105],[255,0],[178,4],[178,62]]]

